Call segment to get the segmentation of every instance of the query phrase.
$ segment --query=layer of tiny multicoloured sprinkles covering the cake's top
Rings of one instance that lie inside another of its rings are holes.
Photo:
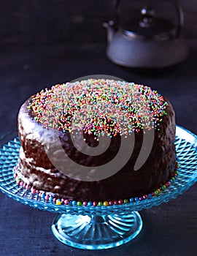
[[[43,127],[63,132],[129,135],[159,129],[168,103],[148,86],[88,79],[52,86],[29,100],[30,115]]]

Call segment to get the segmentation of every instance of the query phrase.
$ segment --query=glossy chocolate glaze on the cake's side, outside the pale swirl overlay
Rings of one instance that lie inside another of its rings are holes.
[[[46,151],[53,148],[55,159],[55,148],[58,148],[55,138],[58,136],[63,150],[74,162],[94,167],[109,162],[116,156],[120,147],[120,135],[112,138],[109,148],[100,156],[88,156],[74,147],[68,132],[43,128],[31,118],[27,106],[28,101],[21,106],[18,114],[21,147],[17,172],[26,184],[35,189],[52,192],[55,196],[71,200],[117,200],[154,191],[169,180],[175,169],[175,118],[170,103],[166,108],[167,115],[162,117],[160,131],[155,130],[152,150],[144,165],[139,170],[134,170],[143,141],[143,132],[135,132],[134,151],[128,162],[115,175],[99,181],[69,178],[53,166]],[[93,144],[93,138],[88,138],[88,142]],[[44,147],[46,144],[47,147]],[[62,165],[68,167],[70,172],[74,171],[74,166],[68,165],[65,161],[62,160]]]

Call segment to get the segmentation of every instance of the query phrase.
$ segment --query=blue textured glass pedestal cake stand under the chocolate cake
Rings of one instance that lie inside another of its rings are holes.
[[[53,234],[63,244],[80,249],[107,249],[131,241],[142,229],[138,211],[176,198],[197,180],[197,137],[177,126],[175,145],[179,176],[158,196],[114,206],[58,206],[16,184],[13,167],[18,162],[20,143],[15,136],[10,133],[0,138],[1,191],[20,203],[58,213],[52,224]]]

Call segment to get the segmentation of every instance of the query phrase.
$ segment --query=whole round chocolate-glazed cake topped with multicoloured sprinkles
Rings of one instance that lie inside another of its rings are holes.
[[[22,105],[18,132],[18,177],[65,200],[148,195],[176,169],[174,110],[148,86],[104,79],[53,86]]]

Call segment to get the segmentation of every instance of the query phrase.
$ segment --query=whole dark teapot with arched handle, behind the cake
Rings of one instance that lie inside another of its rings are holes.
[[[116,23],[104,23],[107,28],[107,57],[124,67],[161,69],[183,61],[188,47],[181,36],[182,8],[177,1],[177,25],[169,20],[155,17],[151,7],[142,7],[142,19],[131,20],[130,29],[120,26],[120,1],[115,1]],[[115,29],[116,26],[116,29]]]

